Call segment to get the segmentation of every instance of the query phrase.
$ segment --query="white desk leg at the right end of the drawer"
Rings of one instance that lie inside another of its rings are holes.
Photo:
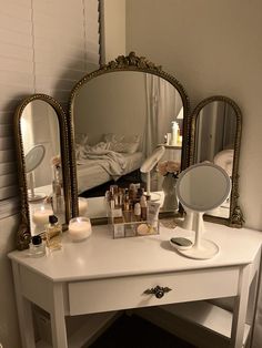
[[[250,266],[240,270],[238,296],[234,300],[233,323],[231,330],[230,348],[242,348],[244,337],[244,325],[249,299],[249,275]]]

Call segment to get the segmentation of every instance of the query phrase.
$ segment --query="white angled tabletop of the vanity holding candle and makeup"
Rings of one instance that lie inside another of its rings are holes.
[[[187,258],[170,246],[171,237],[192,232],[163,226],[159,235],[119,239],[112,238],[108,226],[93,226],[92,235],[80,243],[72,243],[66,232],[61,250],[40,258],[14,250],[9,257],[53,282],[66,282],[244,265],[253,262],[262,242],[261,232],[246,228],[205,223],[205,231],[203,237],[220,246],[208,260]]]

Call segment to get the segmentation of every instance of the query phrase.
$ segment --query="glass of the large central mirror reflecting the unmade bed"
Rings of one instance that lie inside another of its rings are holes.
[[[137,184],[145,191],[148,176],[140,168],[159,145],[165,146],[161,162],[172,160],[180,166],[182,99],[170,82],[158,75],[141,71],[99,75],[77,91],[72,114],[78,193],[92,201],[90,209],[94,206],[92,197],[99,202],[112,184]],[[163,175],[157,165],[151,171],[150,186],[163,205]],[[93,214],[105,216],[103,209]]]

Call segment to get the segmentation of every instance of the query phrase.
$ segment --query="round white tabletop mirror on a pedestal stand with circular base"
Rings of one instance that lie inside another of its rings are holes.
[[[193,246],[179,253],[190,258],[208,259],[219,253],[219,246],[202,238],[203,214],[219,207],[230,195],[231,180],[226,172],[212,163],[199,163],[183,171],[177,183],[177,194],[195,232]]]

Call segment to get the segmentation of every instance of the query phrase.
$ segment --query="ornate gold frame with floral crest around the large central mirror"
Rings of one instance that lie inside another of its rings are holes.
[[[70,140],[70,161],[71,161],[71,190],[72,190],[72,216],[78,216],[78,183],[77,183],[77,165],[75,165],[75,151],[74,151],[74,125],[73,125],[73,102],[77,92],[81,86],[92,79],[107,73],[113,73],[118,71],[139,71],[158,75],[168,82],[170,82],[180,93],[183,103],[184,120],[183,120],[183,145],[181,154],[181,170],[184,170],[189,164],[189,143],[190,143],[190,101],[189,96],[182,86],[182,84],[171,74],[164,72],[161,66],[147,60],[144,57],[138,57],[134,52],[130,52],[129,55],[120,55],[115,60],[110,61],[108,64],[102,65],[99,70],[84,75],[73,88],[70,102],[69,102],[69,140]],[[163,213],[164,214],[164,213]],[[92,223],[104,224],[105,218],[94,218]]]

